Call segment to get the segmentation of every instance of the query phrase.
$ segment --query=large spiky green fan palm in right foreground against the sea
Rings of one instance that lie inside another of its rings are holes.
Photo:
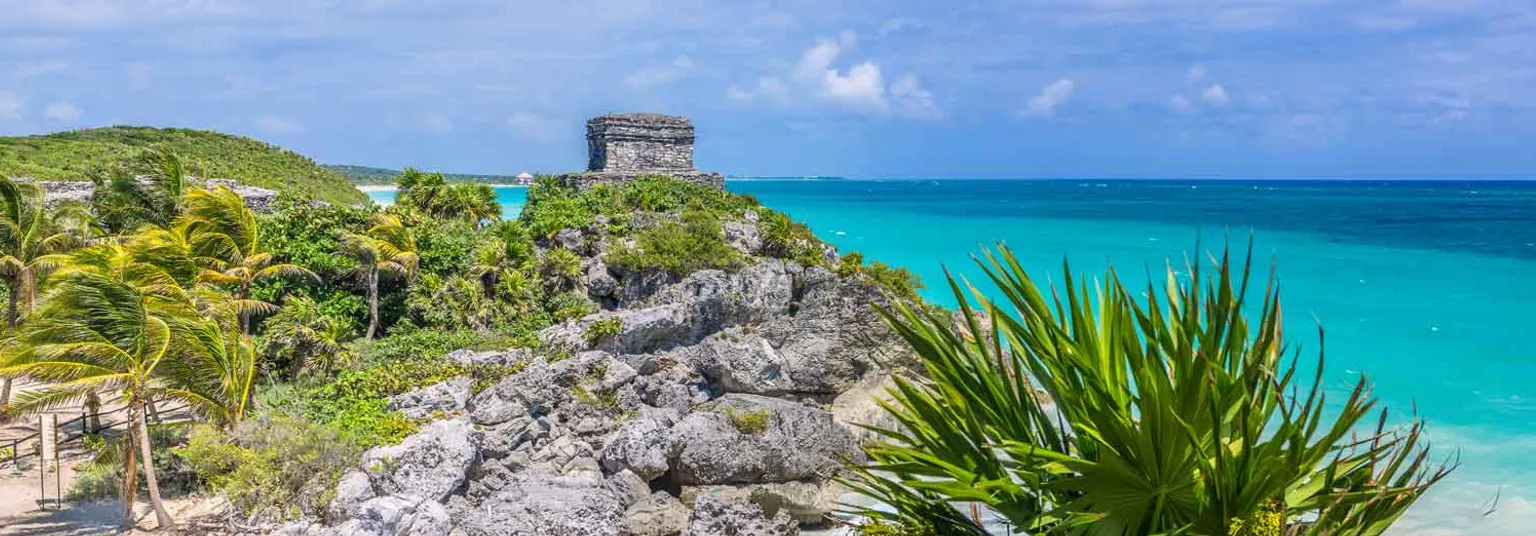
[[[897,379],[900,425],[872,428],[872,464],[846,481],[894,510],[866,516],[980,536],[957,505],[983,504],[1032,534],[1381,534],[1450,471],[1421,422],[1359,427],[1364,379],[1324,409],[1322,359],[1304,385],[1273,281],[1246,318],[1247,263],[1170,269],[1144,293],[1068,269],[1051,298],[1006,247],[978,264],[1003,301],[951,278],[965,326],[885,312],[926,376]]]

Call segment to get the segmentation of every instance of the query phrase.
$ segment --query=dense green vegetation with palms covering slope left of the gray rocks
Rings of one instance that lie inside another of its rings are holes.
[[[401,174],[401,203],[389,209],[289,190],[276,213],[255,215],[233,192],[187,181],[194,166],[167,146],[144,149],[89,203],[52,210],[35,186],[0,180],[0,275],[14,304],[0,376],[52,384],[0,410],[83,396],[134,407],[134,433],[100,439],[101,462],[72,495],[141,490],[161,525],[170,519],[160,498],[197,488],[252,516],[315,513],[324,504],[303,496],[306,485],[329,487],[358,452],[418,428],[389,396],[465,375],[481,390],[515,373],[522,364],[444,355],[535,347],[539,329],[598,310],[581,292],[581,255],[550,240],[559,229],[593,229],[604,238],[578,247],[613,247],[625,266],[680,276],[746,263],[720,221],[777,215],[654,178],[585,192],[545,181],[519,220],[498,221],[484,186],[416,170]],[[814,240],[794,229],[788,240]],[[610,318],[585,338],[598,346],[621,330]],[[144,407],[155,402],[189,402],[209,427],[154,427]]]

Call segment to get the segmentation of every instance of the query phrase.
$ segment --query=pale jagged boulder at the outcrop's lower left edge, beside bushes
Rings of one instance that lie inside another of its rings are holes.
[[[379,493],[442,502],[464,484],[475,461],[475,433],[467,418],[436,421],[398,445],[369,450],[362,468]]]

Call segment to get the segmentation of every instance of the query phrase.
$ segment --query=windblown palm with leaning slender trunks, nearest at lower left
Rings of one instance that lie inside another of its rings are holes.
[[[9,366],[0,376],[29,376],[48,387],[23,392],[6,405],[8,415],[28,415],[74,404],[91,393],[115,392],[129,410],[129,444],[124,448],[123,504],[132,522],[138,475],[144,461],[149,501],[160,527],[172,519],[160,499],[149,445],[146,405],[154,398],[187,399],[157,378],[167,358],[181,352],[172,341],[174,326],[195,319],[197,312],[175,280],[152,266],[132,261],[118,244],[101,253],[114,258],[108,270],[71,267],[54,276],[38,315],[15,335],[5,352]],[[98,256],[98,258],[101,258]]]

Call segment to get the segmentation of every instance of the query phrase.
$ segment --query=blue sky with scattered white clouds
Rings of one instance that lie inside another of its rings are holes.
[[[0,135],[562,172],[608,112],[728,175],[1536,177],[1536,2],[0,0]]]

